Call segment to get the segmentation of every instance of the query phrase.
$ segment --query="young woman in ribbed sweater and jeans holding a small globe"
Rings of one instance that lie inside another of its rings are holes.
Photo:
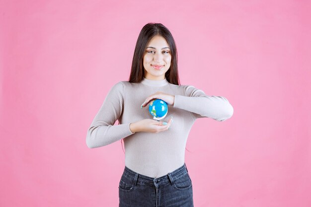
[[[161,121],[154,120],[147,107],[154,99],[168,105]],[[232,115],[225,97],[179,84],[170,31],[160,23],[148,23],[136,43],[129,81],[110,89],[87,131],[86,144],[95,148],[124,138],[119,207],[193,207],[192,181],[184,162],[190,129],[197,118],[222,122]],[[119,125],[113,126],[116,120]]]

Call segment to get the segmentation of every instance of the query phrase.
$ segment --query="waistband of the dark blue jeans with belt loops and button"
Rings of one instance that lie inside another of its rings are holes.
[[[184,163],[178,169],[174,170],[173,172],[167,173],[167,175],[164,175],[159,178],[151,178],[151,177],[139,174],[129,169],[126,166],[124,168],[123,175],[128,177],[129,179],[134,180],[134,185],[136,185],[136,183],[146,183],[150,185],[155,185],[157,187],[158,185],[165,185],[167,183],[171,183],[173,185],[174,180],[178,179],[179,177],[187,173],[188,173],[188,169],[186,167],[186,163]]]

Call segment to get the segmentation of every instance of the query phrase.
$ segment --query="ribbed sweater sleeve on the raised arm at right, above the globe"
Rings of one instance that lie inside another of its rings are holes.
[[[185,94],[175,95],[174,108],[192,112],[195,119],[212,118],[223,122],[233,116],[233,106],[223,96],[208,96],[203,90],[186,85]]]

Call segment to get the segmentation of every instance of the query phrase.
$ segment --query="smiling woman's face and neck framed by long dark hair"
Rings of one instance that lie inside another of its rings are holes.
[[[145,78],[163,80],[170,62],[170,48],[166,40],[162,36],[154,36],[147,44],[143,57]]]

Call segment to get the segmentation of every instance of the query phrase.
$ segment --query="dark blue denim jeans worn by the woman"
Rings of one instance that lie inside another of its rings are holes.
[[[119,207],[193,207],[192,181],[186,164],[159,178],[125,166],[119,183]]]

